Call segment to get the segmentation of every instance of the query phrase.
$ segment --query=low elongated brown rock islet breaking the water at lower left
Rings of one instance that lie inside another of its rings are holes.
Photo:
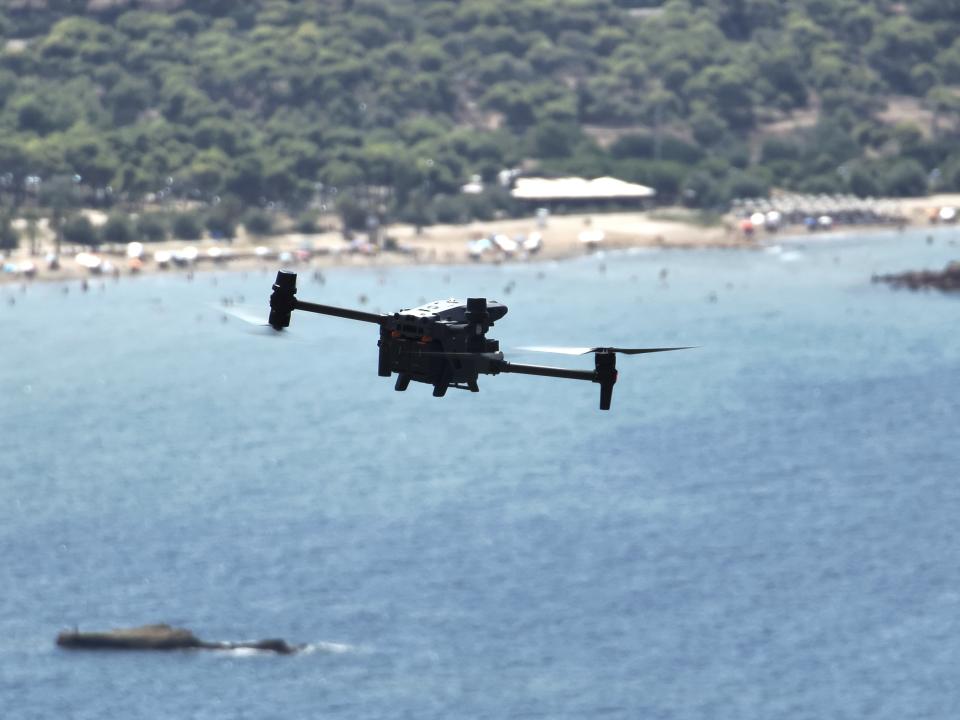
[[[106,632],[70,630],[57,635],[57,645],[70,650],[262,650],[278,655],[292,655],[303,649],[286,640],[254,640],[250,642],[210,642],[201,640],[189,630],[169,625],[143,625]]]

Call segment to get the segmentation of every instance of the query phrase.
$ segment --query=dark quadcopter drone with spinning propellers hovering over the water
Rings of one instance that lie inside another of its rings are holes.
[[[277,273],[270,295],[268,324],[280,331],[290,326],[294,310],[332,315],[377,325],[380,328],[377,374],[397,375],[395,390],[404,391],[411,381],[433,386],[433,396],[443,397],[450,388],[480,392],[480,375],[519,373],[542,377],[586,380],[600,386],[600,409],[609,410],[617,382],[617,355],[688,350],[689,347],[525,347],[521,350],[594,356],[593,370],[522,365],[508,362],[500,343],[487,337],[493,324],[507,314],[507,306],[486,298],[436,300],[392,314],[320,305],[297,299],[297,274]]]

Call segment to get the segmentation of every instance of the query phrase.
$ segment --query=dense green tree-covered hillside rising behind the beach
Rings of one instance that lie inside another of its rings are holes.
[[[429,222],[509,209],[459,188],[517,166],[702,207],[960,189],[960,0],[4,6],[7,203],[72,178],[61,202],[319,198]]]

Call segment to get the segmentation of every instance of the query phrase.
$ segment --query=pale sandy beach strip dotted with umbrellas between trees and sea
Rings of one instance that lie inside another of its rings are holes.
[[[908,226],[929,224],[931,209],[960,207],[960,194],[909,198],[897,202]],[[669,217],[670,219],[664,219]],[[212,269],[252,270],[275,267],[277,264],[301,268],[323,268],[350,265],[416,265],[421,263],[463,264],[469,262],[522,262],[533,259],[560,259],[597,250],[616,250],[630,247],[664,248],[730,248],[761,247],[777,236],[806,234],[801,226],[781,228],[778,235],[757,232],[745,236],[737,228],[737,219],[727,217],[721,224],[697,224],[696,216],[683,209],[648,212],[615,212],[575,215],[553,215],[544,220],[534,217],[472,222],[465,225],[434,225],[419,233],[409,225],[393,225],[385,236],[393,240],[401,251],[377,252],[362,245],[351,247],[340,232],[314,235],[289,233],[264,238],[248,237],[242,232],[232,242],[200,240],[184,242],[170,240],[145,243],[140,273],[192,272]],[[877,229],[894,230],[890,225],[837,225],[833,232],[867,232]],[[513,253],[491,249],[477,258],[471,256],[469,244],[485,237],[531,237],[539,234],[540,246],[535,252],[518,249]],[[584,242],[594,238],[595,242]],[[598,239],[602,237],[602,239]],[[87,248],[63,246],[60,267],[51,270],[45,256],[53,251],[49,232],[40,233],[39,249],[31,257],[27,242],[3,262],[16,267],[33,263],[35,273],[27,277],[21,272],[0,273],[0,283],[23,283],[31,280],[80,280],[90,277],[91,271],[77,262]],[[175,254],[185,247],[196,248],[196,260],[187,263],[158,265],[154,254],[166,251]],[[259,249],[259,250],[258,250]],[[125,246],[101,246],[97,255],[106,263],[106,274],[126,276],[133,274],[126,257]],[[259,252],[259,254],[258,254]],[[103,271],[98,271],[103,273]]]

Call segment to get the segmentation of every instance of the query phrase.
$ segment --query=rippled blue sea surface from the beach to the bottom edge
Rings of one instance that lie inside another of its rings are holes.
[[[276,268],[2,287],[0,717],[960,717],[960,298],[870,282],[958,243],[301,276],[498,299],[505,348],[698,346],[621,358],[610,412],[516,375],[397,393],[371,325],[215,309]],[[54,645],[155,622],[309,649]]]

